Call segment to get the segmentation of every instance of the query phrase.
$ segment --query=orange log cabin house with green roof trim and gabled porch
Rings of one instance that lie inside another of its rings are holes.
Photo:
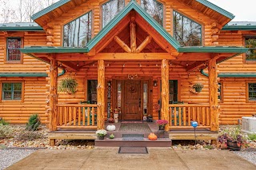
[[[118,107],[119,121],[151,115],[167,132],[190,121],[217,132],[256,112],[256,23],[230,22],[206,0],[60,0],[32,18],[0,25],[0,117],[10,123],[38,113],[51,132],[95,139]],[[76,93],[58,92],[63,77]],[[68,136],[54,134],[50,144]]]

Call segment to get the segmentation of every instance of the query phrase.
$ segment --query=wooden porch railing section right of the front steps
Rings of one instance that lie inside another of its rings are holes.
[[[210,128],[210,105],[169,105],[170,128],[192,128],[191,121],[198,122],[198,128]]]

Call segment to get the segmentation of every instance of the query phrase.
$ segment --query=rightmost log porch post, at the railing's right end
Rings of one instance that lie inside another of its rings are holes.
[[[216,59],[209,60],[210,131],[218,131],[218,81]]]

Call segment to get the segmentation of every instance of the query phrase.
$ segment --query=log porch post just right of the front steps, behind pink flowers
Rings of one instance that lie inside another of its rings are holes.
[[[161,92],[161,119],[170,121],[169,115],[169,65],[168,60],[163,59],[161,65],[162,71],[162,92]],[[170,130],[169,124],[166,125],[166,131]]]

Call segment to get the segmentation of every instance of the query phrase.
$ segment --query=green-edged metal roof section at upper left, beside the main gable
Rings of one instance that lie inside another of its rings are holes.
[[[43,31],[41,26],[38,26],[35,22],[24,23],[2,23],[0,24],[0,30],[2,31]]]

